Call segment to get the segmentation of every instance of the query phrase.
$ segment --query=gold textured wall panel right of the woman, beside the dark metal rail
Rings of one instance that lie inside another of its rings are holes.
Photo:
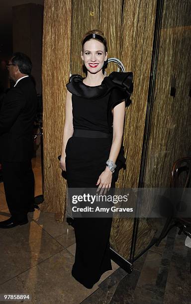
[[[122,12],[120,59],[126,71],[133,72],[132,104],[126,110],[124,151],[126,171],[121,170],[117,187],[138,187],[148,88],[155,27],[156,0],[126,0]],[[121,256],[128,259],[134,219],[115,219],[110,243]],[[155,230],[146,219],[140,219],[136,254],[146,248]]]

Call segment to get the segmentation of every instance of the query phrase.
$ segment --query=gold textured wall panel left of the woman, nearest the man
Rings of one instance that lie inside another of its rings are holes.
[[[65,214],[66,182],[57,155],[61,153],[66,83],[70,74],[71,0],[45,0],[43,33],[44,210]]]

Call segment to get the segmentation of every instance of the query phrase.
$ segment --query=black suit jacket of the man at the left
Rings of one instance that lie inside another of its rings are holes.
[[[37,103],[30,76],[19,80],[5,95],[0,109],[0,161],[32,158]]]

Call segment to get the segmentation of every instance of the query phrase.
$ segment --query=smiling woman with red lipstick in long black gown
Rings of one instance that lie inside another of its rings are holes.
[[[114,188],[119,169],[125,167],[122,138],[125,106],[130,104],[133,90],[132,73],[112,72],[104,77],[107,45],[99,30],[84,36],[81,57],[87,77],[72,75],[67,83],[60,166],[66,170],[69,188],[108,190]],[[74,218],[72,275],[86,288],[112,269],[111,224],[112,218]]]

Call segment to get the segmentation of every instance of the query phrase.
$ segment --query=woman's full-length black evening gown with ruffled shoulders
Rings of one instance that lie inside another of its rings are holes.
[[[96,182],[105,169],[112,144],[111,110],[123,100],[126,106],[131,103],[132,76],[131,72],[112,72],[98,86],[84,84],[80,75],[70,77],[67,88],[72,93],[74,134],[81,130],[86,136],[73,135],[66,145],[69,188],[98,187]],[[107,137],[89,137],[87,134],[92,131],[106,133]],[[125,168],[125,160],[121,146],[112,175],[112,188],[120,168]],[[72,275],[86,288],[92,288],[105,271],[112,269],[109,251],[111,224],[112,218],[74,218],[76,255]]]

